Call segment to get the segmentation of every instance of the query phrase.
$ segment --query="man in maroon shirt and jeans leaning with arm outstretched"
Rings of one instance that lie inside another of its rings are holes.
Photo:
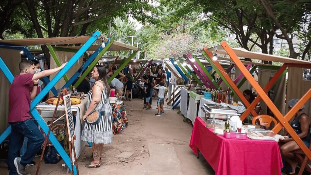
[[[36,155],[38,149],[44,142],[44,136],[39,128],[31,120],[30,100],[33,100],[37,93],[37,88],[32,88],[30,84],[38,86],[39,78],[49,76],[61,69],[66,64],[62,64],[55,69],[45,70],[35,73],[35,65],[32,61],[21,61],[19,64],[20,74],[14,77],[9,90],[9,115],[8,122],[12,126],[11,139],[8,152],[8,165],[10,175],[26,175],[25,166]],[[29,93],[30,92],[30,93]],[[24,137],[28,138],[29,148],[25,154],[18,157],[22,147]]]

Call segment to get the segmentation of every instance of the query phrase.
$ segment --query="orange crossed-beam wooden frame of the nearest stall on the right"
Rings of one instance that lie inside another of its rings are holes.
[[[215,48],[215,47],[213,47]],[[235,93],[239,96],[239,98],[243,101],[244,105],[247,107],[247,110],[243,113],[241,116],[241,119],[245,119],[245,117],[249,114],[249,112],[252,113],[253,116],[257,116],[256,112],[254,111],[254,107],[256,104],[262,99],[263,102],[269,106],[270,110],[274,114],[274,116],[278,120],[278,124],[272,129],[274,133],[278,133],[282,127],[284,127],[288,133],[291,135],[291,137],[295,140],[295,142],[299,145],[300,149],[304,152],[304,154],[311,160],[311,151],[308,149],[308,147],[303,143],[303,141],[299,138],[299,136],[296,134],[296,132],[293,130],[293,128],[290,126],[290,119],[295,115],[295,113],[300,109],[301,106],[304,105],[310,98],[311,98],[311,88],[306,92],[303,97],[300,98],[300,100],[297,102],[293,108],[291,108],[285,116],[281,114],[281,112],[278,110],[278,108],[275,106],[275,104],[271,101],[271,99],[267,96],[268,90],[273,86],[273,84],[276,82],[276,80],[283,74],[285,69],[287,67],[298,67],[298,68],[311,68],[311,63],[308,61],[302,61],[297,59],[290,59],[286,57],[278,57],[274,55],[269,54],[262,54],[262,53],[253,53],[246,50],[240,50],[240,49],[231,49],[230,46],[225,42],[221,42],[219,46],[216,46],[216,49],[218,53],[220,54],[227,54],[230,56],[230,59],[236,64],[236,66],[240,69],[240,71],[244,74],[245,78],[248,80],[248,82],[253,86],[253,88],[258,93],[258,97],[252,102],[252,104],[249,104],[243,94],[239,91],[239,89],[235,86],[233,81],[230,79],[228,74],[223,72],[219,72],[225,80],[231,85],[231,88],[235,91]],[[220,70],[222,69],[221,66],[218,65],[217,61],[212,60],[213,54],[207,47],[204,48],[202,54],[206,56],[211,62],[216,65]],[[260,85],[256,82],[256,80],[253,78],[251,73],[245,68],[243,61],[238,58],[240,57],[246,57],[251,59],[259,59],[264,61],[276,61],[276,62],[283,62],[284,64],[281,66],[281,68],[275,73],[274,77],[267,83],[267,85],[262,88]]]

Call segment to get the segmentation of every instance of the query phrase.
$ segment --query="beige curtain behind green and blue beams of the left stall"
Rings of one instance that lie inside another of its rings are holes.
[[[64,52],[64,51],[55,51],[55,54],[57,55],[60,63],[63,64],[63,63],[68,62],[75,53]],[[72,77],[72,75],[77,72],[77,70],[82,66],[82,63],[83,63],[83,58],[81,57],[81,58],[78,59],[78,61],[66,73],[68,79],[70,79]],[[54,59],[53,59],[53,57],[51,55],[50,69],[53,69],[53,68],[56,68],[56,67],[58,67],[58,66],[56,65],[56,63],[55,63],[55,61],[54,61]],[[54,73],[54,74],[50,75],[50,80],[52,80],[57,73]],[[64,78],[61,78],[58,81],[58,83],[56,83],[56,85],[54,87],[56,89],[62,88],[65,83],[66,82],[65,82]],[[49,97],[53,97],[53,96],[54,96],[53,93],[50,91],[49,92]]]

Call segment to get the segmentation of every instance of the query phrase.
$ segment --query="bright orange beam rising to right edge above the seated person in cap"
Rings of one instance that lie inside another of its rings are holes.
[[[295,104],[295,106],[293,106],[293,108],[291,108],[287,112],[287,114],[284,116],[285,120],[290,121],[290,119],[296,114],[296,112],[299,111],[300,107],[303,106],[310,98],[311,98],[311,88],[309,89],[308,92],[304,94],[304,96],[300,98],[300,100]],[[278,133],[280,132],[281,129],[282,125],[278,123],[277,125],[274,126],[273,132]]]

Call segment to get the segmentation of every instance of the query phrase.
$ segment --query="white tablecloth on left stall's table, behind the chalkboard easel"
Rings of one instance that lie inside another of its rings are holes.
[[[81,140],[81,134],[82,134],[82,129],[83,129],[81,117],[85,114],[86,102],[87,102],[87,99],[83,99],[83,100],[81,100],[80,104],[71,106],[71,110],[77,112],[76,126],[75,126],[76,140],[74,140],[77,158],[82,153],[83,148],[84,148],[85,143],[86,143],[85,141]],[[45,102],[43,102],[43,103],[39,103],[36,106],[36,109],[41,110],[41,111],[54,111],[55,107],[56,107],[55,105],[49,105],[49,104],[46,104]],[[58,111],[65,111],[65,106],[59,105],[57,107],[57,110]]]

